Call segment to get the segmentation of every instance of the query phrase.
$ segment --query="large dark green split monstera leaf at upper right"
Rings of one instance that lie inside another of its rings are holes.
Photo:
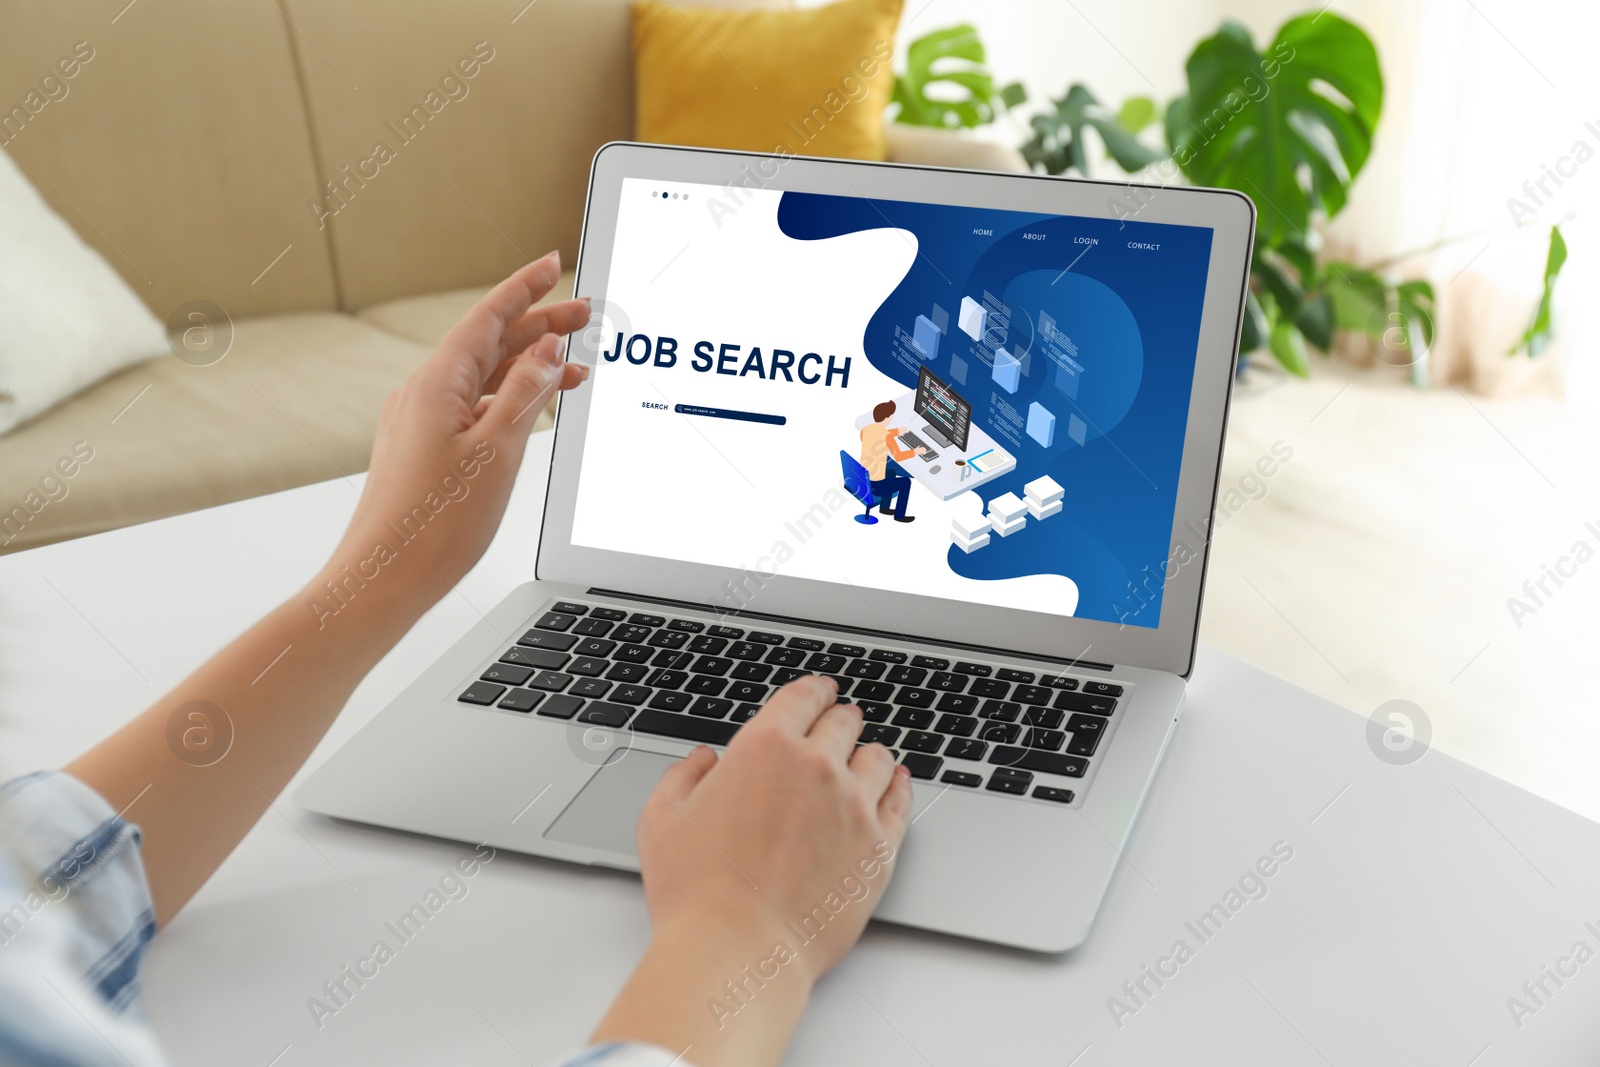
[[[1331,14],[1283,24],[1264,51],[1224,22],[1189,56],[1189,94],[1166,109],[1173,158],[1190,181],[1248,194],[1267,246],[1338,214],[1366,163],[1384,82],[1373,42]]]

